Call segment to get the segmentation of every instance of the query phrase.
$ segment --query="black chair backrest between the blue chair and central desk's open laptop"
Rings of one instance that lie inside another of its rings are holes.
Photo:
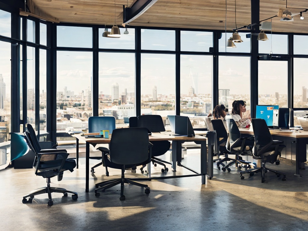
[[[150,132],[165,132],[163,118],[160,115],[139,115],[138,128],[148,128]]]

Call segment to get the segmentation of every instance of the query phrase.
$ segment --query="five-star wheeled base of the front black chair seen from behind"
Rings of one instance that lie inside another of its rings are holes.
[[[122,176],[119,179],[112,179],[112,180],[106,180],[103,181],[101,183],[95,184],[95,187],[97,189],[95,189],[95,197],[99,197],[100,193],[99,192],[105,192],[106,189],[111,188],[117,184],[121,184],[121,196],[120,196],[120,201],[124,201],[125,200],[125,196],[124,196],[124,183],[126,184],[133,184],[139,187],[143,187],[145,188],[144,193],[149,194],[150,193],[150,188],[148,187],[147,184],[140,184],[136,181],[130,180],[128,178],[125,178],[124,176],[124,171],[125,171],[125,166],[123,166],[122,168]]]

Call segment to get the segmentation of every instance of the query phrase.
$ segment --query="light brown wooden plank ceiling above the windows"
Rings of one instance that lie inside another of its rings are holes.
[[[26,0],[31,13],[55,22],[112,25],[122,23],[123,5],[130,6],[133,0]],[[242,27],[251,23],[249,0],[158,0],[131,26],[175,27],[193,29],[225,29]],[[235,24],[236,3],[236,24]],[[116,4],[116,6],[115,6]],[[292,14],[308,8],[308,1],[289,0],[288,9]],[[286,8],[286,0],[260,0],[260,20],[277,15],[279,8]],[[293,13],[294,12],[294,13]],[[31,15],[32,15],[31,14]],[[307,20],[294,16],[294,22],[280,22],[272,19],[272,29],[277,32],[308,33]],[[305,18],[306,19],[306,18]]]

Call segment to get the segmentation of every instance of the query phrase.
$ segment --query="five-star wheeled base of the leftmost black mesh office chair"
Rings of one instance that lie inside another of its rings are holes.
[[[28,195],[23,197],[22,203],[23,204],[32,203],[32,199],[34,198],[34,196],[39,195],[39,194],[43,194],[43,193],[48,193],[49,201],[48,201],[47,204],[50,205],[50,206],[53,205],[51,193],[63,193],[64,197],[67,197],[67,193],[71,193],[72,199],[74,201],[78,199],[78,193],[66,190],[65,188],[50,187],[50,178],[47,178],[46,181],[47,181],[47,187],[38,188],[38,189],[31,191]],[[27,197],[30,197],[30,198],[27,200],[26,199]]]

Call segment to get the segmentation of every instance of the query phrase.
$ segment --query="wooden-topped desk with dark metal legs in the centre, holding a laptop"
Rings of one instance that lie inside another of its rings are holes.
[[[83,140],[86,142],[86,192],[89,192],[89,157],[90,157],[90,144],[109,144],[110,138],[85,138],[81,135],[72,135],[77,140]],[[194,175],[185,175],[185,176],[201,176],[201,184],[205,184],[206,175],[207,175],[207,163],[211,163],[211,158],[208,160],[207,155],[207,148],[206,148],[206,138],[204,136],[195,136],[195,137],[186,137],[186,136],[169,136],[163,133],[152,133],[152,136],[149,136],[149,141],[159,141],[159,140],[170,140],[172,141],[172,168],[176,170],[176,162],[178,166],[183,166],[181,164],[182,160],[182,148],[181,143],[184,141],[199,141],[201,143],[201,155],[200,155],[200,162],[201,162],[201,173],[197,173],[189,168],[189,170],[193,171]],[[212,163],[211,163],[212,164]],[[150,179],[163,179],[163,178],[176,178],[176,177],[183,177],[183,176],[165,176],[165,177],[152,177],[152,178],[144,178],[147,180]]]

